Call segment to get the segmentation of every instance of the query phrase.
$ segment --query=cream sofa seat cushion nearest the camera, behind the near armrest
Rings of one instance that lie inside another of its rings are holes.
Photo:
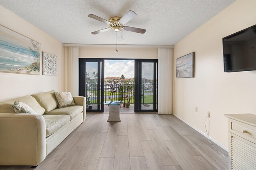
[[[46,137],[52,135],[70,122],[69,115],[43,115],[46,124]]]

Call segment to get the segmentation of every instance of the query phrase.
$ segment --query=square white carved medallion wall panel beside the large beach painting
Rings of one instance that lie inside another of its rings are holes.
[[[57,75],[57,56],[43,52],[43,75]]]

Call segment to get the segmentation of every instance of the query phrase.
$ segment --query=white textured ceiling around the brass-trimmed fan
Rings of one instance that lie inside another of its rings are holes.
[[[132,10],[137,16],[126,23],[146,29],[146,33],[122,31],[118,44],[174,45],[200,25],[224,10],[234,0],[0,0],[0,4],[42,29],[62,43],[115,44],[114,30],[92,35],[109,27],[93,20],[124,16]]]

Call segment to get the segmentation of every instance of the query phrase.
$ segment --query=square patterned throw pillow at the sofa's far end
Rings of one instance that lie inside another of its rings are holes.
[[[59,108],[75,105],[70,92],[54,92],[53,95]]]

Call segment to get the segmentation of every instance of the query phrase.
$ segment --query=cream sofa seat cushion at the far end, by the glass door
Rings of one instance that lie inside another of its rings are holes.
[[[48,113],[45,113],[44,115],[70,115],[72,120],[82,112],[83,112],[83,106],[75,105],[75,106],[57,108]]]

